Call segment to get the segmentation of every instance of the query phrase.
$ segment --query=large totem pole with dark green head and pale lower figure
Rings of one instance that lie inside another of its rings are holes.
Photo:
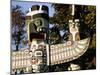
[[[46,33],[48,28],[48,7],[33,5],[26,15],[26,25],[30,52],[32,53],[32,71],[42,72],[47,63]]]

